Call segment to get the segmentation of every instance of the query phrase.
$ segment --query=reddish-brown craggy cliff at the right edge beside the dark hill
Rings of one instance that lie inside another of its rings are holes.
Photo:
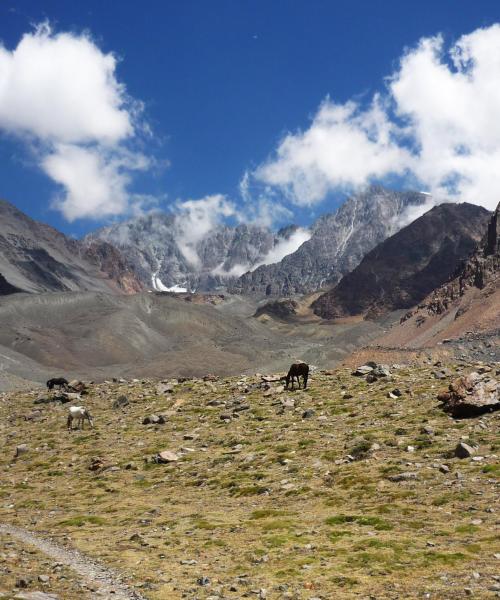
[[[481,242],[475,251],[455,271],[453,276],[437,287],[417,309],[403,317],[403,321],[417,313],[441,315],[457,303],[471,288],[491,295],[500,285],[500,203],[483,228]],[[465,308],[462,308],[465,310]]]

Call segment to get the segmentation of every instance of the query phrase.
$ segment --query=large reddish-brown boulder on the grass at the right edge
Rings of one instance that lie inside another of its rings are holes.
[[[488,374],[471,373],[455,379],[437,398],[454,418],[478,417],[500,410],[499,389],[498,381]]]

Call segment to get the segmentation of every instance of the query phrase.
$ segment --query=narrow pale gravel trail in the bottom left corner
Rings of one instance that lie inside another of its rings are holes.
[[[21,542],[31,544],[57,562],[66,565],[85,581],[93,593],[92,598],[115,598],[116,600],[145,600],[145,597],[122,581],[119,574],[107,569],[95,560],[75,549],[66,549],[26,529],[3,525],[0,533],[9,534]]]

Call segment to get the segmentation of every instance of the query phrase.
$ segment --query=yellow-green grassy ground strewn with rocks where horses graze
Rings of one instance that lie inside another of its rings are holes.
[[[257,376],[102,383],[84,399],[95,429],[71,433],[39,391],[0,395],[0,523],[151,600],[497,597],[500,413],[444,414],[438,391],[474,365],[447,367],[438,380],[432,364],[394,366],[372,384],[315,372],[294,392]],[[166,422],[143,425],[153,413]],[[454,457],[461,440],[475,456]],[[163,450],[171,462],[153,462]],[[1,534],[0,598],[27,571],[28,591],[90,594],[53,562]]]

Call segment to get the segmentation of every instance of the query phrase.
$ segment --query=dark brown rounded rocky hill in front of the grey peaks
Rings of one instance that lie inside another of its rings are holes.
[[[333,319],[374,317],[409,308],[447,281],[484,234],[490,213],[473,204],[441,204],[369,252],[313,303]]]

